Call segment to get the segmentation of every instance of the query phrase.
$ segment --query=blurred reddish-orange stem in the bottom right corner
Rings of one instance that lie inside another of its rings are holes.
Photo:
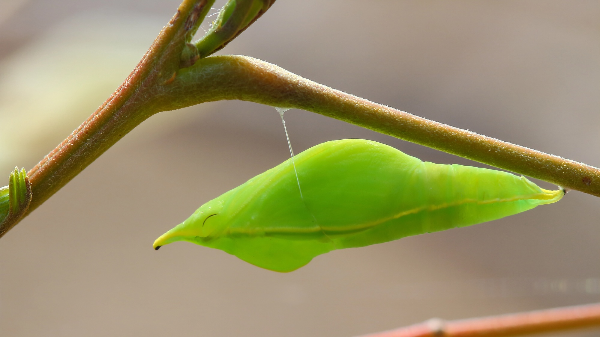
[[[361,337],[506,337],[600,326],[600,303],[421,324]]]

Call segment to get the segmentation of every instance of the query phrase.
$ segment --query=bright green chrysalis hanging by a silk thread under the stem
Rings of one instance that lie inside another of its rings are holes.
[[[503,171],[423,162],[369,140],[322,143],[294,159],[299,185],[287,160],[203,204],[154,248],[189,241],[290,272],[334,249],[479,224],[565,194]]]

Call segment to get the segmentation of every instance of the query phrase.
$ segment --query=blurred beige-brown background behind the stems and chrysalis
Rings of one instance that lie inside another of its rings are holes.
[[[0,172],[30,169],[90,115],[177,6],[0,0]],[[600,166],[600,1],[278,0],[223,53]],[[474,164],[299,110],[286,124],[296,153],[360,137]],[[350,337],[600,300],[600,200],[580,192],[287,274],[190,243],[152,250],[288,156],[271,107],[217,102],[144,122],[0,240],[0,335]]]

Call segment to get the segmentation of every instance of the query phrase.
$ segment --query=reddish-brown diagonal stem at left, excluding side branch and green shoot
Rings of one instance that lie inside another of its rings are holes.
[[[153,97],[179,69],[190,31],[214,0],[184,0],[125,82],[79,128],[28,172],[33,198],[28,212],[73,179],[149,116],[161,111]]]

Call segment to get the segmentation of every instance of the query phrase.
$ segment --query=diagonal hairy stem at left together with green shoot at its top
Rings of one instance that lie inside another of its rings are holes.
[[[179,5],[175,16],[125,82],[92,116],[28,172],[32,190],[28,211],[19,217],[12,217],[10,223],[0,219],[4,221],[2,228],[14,227],[23,216],[40,206],[145,119],[157,112],[170,110],[168,96],[178,71],[191,67],[200,58],[196,44],[190,42],[214,2],[184,0]],[[206,54],[202,56],[225,46],[262,16],[274,2],[230,0],[225,8],[239,9],[241,20],[223,19],[225,22],[221,23],[229,29],[225,29],[227,34],[221,34],[221,30],[217,29],[200,39],[197,42],[199,46],[205,46],[206,41],[212,46],[209,50],[202,49],[202,53]],[[239,19],[238,16],[233,17]],[[164,104],[165,97],[167,104]],[[0,231],[0,237],[6,231]]]

